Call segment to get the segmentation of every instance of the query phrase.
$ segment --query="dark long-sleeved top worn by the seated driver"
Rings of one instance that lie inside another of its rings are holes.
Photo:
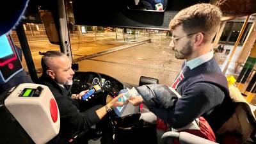
[[[79,103],[71,99],[70,86],[64,85],[64,88],[56,83],[49,76],[41,76],[38,83],[48,86],[56,99],[60,111],[60,140],[61,143],[67,143],[73,134],[86,131],[97,122],[95,109],[79,111]]]

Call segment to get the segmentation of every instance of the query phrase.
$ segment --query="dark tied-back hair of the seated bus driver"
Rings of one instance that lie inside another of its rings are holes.
[[[43,55],[42,59],[41,59],[41,66],[42,66],[42,69],[43,69],[43,75],[46,74],[46,70],[49,70],[49,67],[47,66],[47,61],[49,60],[49,58],[65,56],[64,53],[59,52],[59,51],[40,52],[40,54]]]

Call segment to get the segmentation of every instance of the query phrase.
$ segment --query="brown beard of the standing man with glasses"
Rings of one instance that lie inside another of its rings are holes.
[[[184,45],[184,47],[182,48],[181,51],[175,51],[175,58],[180,59],[180,60],[184,60],[186,58],[188,58],[188,56],[190,56],[192,54],[192,45],[191,42],[189,40],[189,42]]]

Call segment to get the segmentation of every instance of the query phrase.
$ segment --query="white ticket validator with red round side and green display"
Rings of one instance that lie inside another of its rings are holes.
[[[19,84],[2,93],[0,115],[0,143],[47,143],[60,131],[56,100],[41,84]]]

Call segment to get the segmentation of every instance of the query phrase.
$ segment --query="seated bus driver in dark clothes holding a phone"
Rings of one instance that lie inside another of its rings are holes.
[[[58,51],[47,51],[43,53],[41,65],[43,74],[39,78],[39,83],[48,86],[56,99],[60,111],[60,141],[57,143],[67,143],[73,134],[82,131],[88,131],[90,127],[99,122],[113,107],[120,106],[118,98],[111,100],[106,106],[94,106],[86,111],[79,110],[79,104],[72,99],[70,85],[74,71],[71,68],[71,62],[68,57]],[[74,96],[75,99],[81,99],[87,91]],[[81,141],[86,143],[87,141]]]

